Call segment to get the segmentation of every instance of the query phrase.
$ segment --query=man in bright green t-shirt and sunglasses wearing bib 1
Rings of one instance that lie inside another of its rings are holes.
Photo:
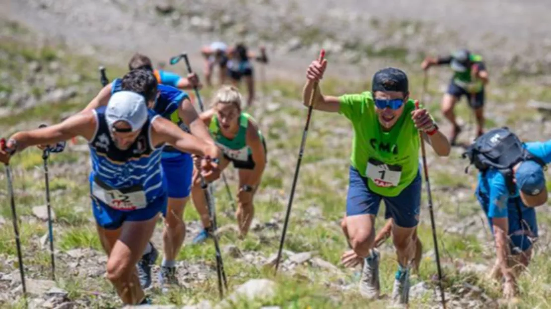
[[[407,304],[421,200],[418,130],[423,131],[424,140],[439,156],[450,153],[450,144],[426,109],[416,109],[416,102],[409,99],[408,79],[402,70],[377,71],[371,92],[334,97],[322,95],[319,88],[314,90],[314,82],[322,78],[326,67],[327,60],[310,64],[302,99],[307,106],[315,91],[314,108],[344,115],[354,130],[343,223],[352,250],[345,252],[341,260],[348,265],[358,257],[364,258],[360,294],[378,298],[379,253],[374,249],[374,227],[379,204],[385,201],[398,256],[392,298]]]

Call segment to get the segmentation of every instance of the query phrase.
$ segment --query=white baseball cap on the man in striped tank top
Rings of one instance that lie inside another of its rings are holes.
[[[142,129],[147,121],[148,111],[145,98],[132,91],[117,91],[109,99],[105,109],[105,119],[109,129],[118,121],[127,122],[132,131]]]

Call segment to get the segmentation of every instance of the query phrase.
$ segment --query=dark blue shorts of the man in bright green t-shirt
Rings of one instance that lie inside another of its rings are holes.
[[[392,218],[398,227],[413,228],[419,223],[421,206],[421,174],[417,176],[399,195],[382,196],[369,190],[368,179],[357,169],[350,167],[346,215],[372,214],[377,216],[381,200],[385,201],[385,218]]]

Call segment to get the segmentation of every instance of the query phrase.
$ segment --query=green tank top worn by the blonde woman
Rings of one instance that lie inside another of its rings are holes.
[[[246,162],[252,154],[251,148],[247,146],[249,119],[254,120],[250,114],[241,113],[241,115],[239,115],[239,131],[237,131],[235,137],[230,140],[228,137],[222,135],[216,115],[214,114],[212,116],[212,121],[209,125],[210,135],[212,135],[214,142],[222,148],[224,154],[230,159]],[[264,140],[260,130],[258,130],[258,136],[260,136],[261,141]]]

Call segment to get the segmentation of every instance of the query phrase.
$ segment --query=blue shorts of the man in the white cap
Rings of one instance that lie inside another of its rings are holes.
[[[147,207],[133,211],[120,211],[109,207],[106,203],[92,198],[92,212],[96,223],[106,230],[116,230],[122,226],[125,221],[145,221],[155,217],[159,212],[166,208],[166,191],[161,196],[155,198]]]

